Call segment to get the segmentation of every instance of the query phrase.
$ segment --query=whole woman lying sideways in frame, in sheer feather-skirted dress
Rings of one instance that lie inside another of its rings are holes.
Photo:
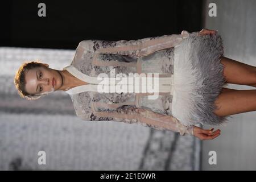
[[[83,40],[63,71],[24,63],[14,84],[28,100],[67,92],[77,116],[86,121],[139,123],[205,140],[220,130],[197,123],[222,125],[229,115],[255,110],[255,90],[223,88],[255,86],[255,72],[224,57],[221,36],[203,29],[130,41]]]

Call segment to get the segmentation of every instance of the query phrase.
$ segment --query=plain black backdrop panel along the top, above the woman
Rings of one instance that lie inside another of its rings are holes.
[[[46,3],[46,17],[38,4]],[[75,49],[81,40],[132,40],[199,31],[202,1],[5,1],[0,46]]]

